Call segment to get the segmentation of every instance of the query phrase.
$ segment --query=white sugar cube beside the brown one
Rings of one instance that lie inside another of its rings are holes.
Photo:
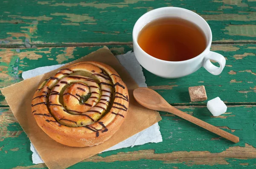
[[[213,116],[217,117],[227,111],[227,106],[220,99],[220,97],[216,97],[207,102],[207,109],[212,113]]]

